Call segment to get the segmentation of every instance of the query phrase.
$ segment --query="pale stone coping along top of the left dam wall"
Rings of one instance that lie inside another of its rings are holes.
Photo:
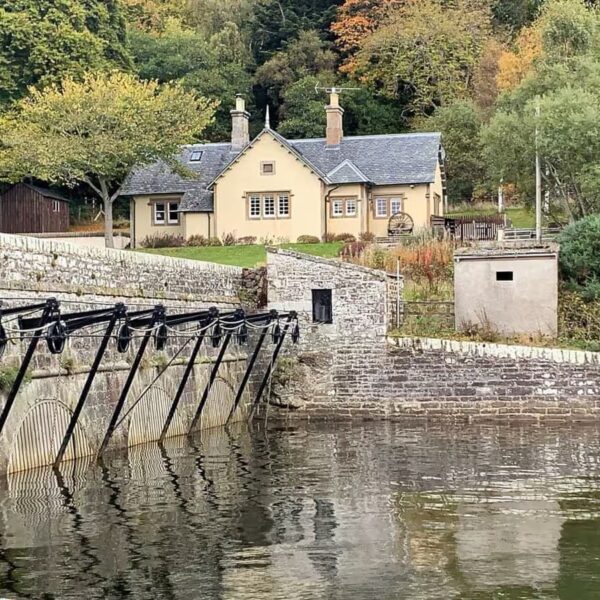
[[[24,250],[27,252],[39,252],[43,254],[69,255],[79,258],[89,258],[99,261],[121,262],[121,264],[135,265],[163,265],[164,267],[184,267],[186,269],[209,271],[215,273],[229,273],[241,275],[242,267],[219,265],[216,263],[191,260],[187,258],[175,258],[160,254],[148,254],[144,252],[132,252],[129,250],[117,250],[114,248],[92,248],[78,246],[69,242],[45,240],[36,237],[21,235],[0,234],[0,251],[2,250]]]

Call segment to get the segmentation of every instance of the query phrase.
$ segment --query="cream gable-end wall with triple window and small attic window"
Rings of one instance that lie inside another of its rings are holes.
[[[262,162],[275,162],[273,175],[261,174]],[[291,218],[248,218],[247,194],[290,192]],[[268,133],[246,152],[215,185],[214,235],[255,236],[291,242],[301,235],[324,232],[321,180]]]

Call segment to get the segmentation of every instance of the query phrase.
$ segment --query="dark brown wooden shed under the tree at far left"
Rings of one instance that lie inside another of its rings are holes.
[[[0,232],[68,231],[69,209],[69,200],[59,192],[18,183],[0,194]]]

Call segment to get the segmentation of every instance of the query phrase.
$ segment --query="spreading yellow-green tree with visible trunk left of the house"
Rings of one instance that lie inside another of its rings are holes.
[[[213,103],[176,85],[123,73],[32,90],[0,120],[0,180],[89,186],[102,199],[106,245],[113,247],[113,203],[124,178],[136,166],[173,163],[213,111]]]

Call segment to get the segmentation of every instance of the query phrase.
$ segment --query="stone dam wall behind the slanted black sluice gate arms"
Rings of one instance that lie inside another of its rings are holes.
[[[185,313],[210,306],[231,311],[240,306],[243,295],[240,293],[243,287],[241,268],[199,261],[82,248],[64,242],[11,235],[0,235],[0,259],[0,300],[8,307],[55,297],[63,312],[108,308],[116,302],[124,302],[131,310],[162,304],[167,312]],[[17,323],[13,319],[3,319],[11,337],[0,362],[4,375],[11,369],[14,372],[20,365],[29,343],[28,339],[19,339]],[[37,420],[32,435],[38,439],[45,435],[47,439],[45,445],[30,444],[26,451],[21,448],[21,454],[24,454],[20,459],[24,461],[22,464],[47,464],[44,460],[55,456],[65,420],[70,418],[75,407],[105,327],[100,325],[74,334],[61,355],[50,354],[44,341],[38,345],[27,382],[17,396],[0,437],[0,471],[6,469],[11,460],[14,468],[15,449],[21,443],[19,435],[26,433],[28,423],[34,418]],[[192,341],[188,333],[180,331],[170,333],[164,351],[157,351],[154,343],[150,343],[125,405],[123,414],[127,418],[117,430],[112,447],[130,444],[130,434],[136,443],[156,439],[156,429],[160,423],[164,424],[190,355]],[[125,354],[118,354],[115,346],[112,340],[81,415],[78,434],[81,447],[78,453],[95,453],[98,450],[139,347],[139,339],[132,342]],[[217,352],[209,344],[204,345],[173,424],[173,432],[186,432]],[[206,405],[201,426],[224,422],[245,365],[246,349],[231,344]],[[136,403],[146,386],[165,367],[167,369],[152,386],[151,392]],[[4,404],[6,391],[0,391],[0,406]],[[48,456],[45,457],[44,453]]]

